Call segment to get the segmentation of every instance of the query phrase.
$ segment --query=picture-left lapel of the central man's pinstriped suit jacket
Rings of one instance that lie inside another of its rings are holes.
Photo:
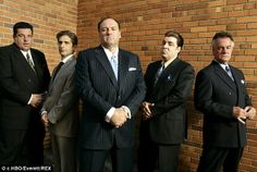
[[[101,66],[103,67],[103,70],[106,71],[107,75],[110,77],[111,83],[113,84],[113,86],[115,88],[119,88],[118,86],[118,82],[114,75],[114,72],[112,70],[112,66],[103,51],[103,49],[99,46],[96,50],[96,59],[100,62]],[[120,66],[119,66],[120,69]]]

